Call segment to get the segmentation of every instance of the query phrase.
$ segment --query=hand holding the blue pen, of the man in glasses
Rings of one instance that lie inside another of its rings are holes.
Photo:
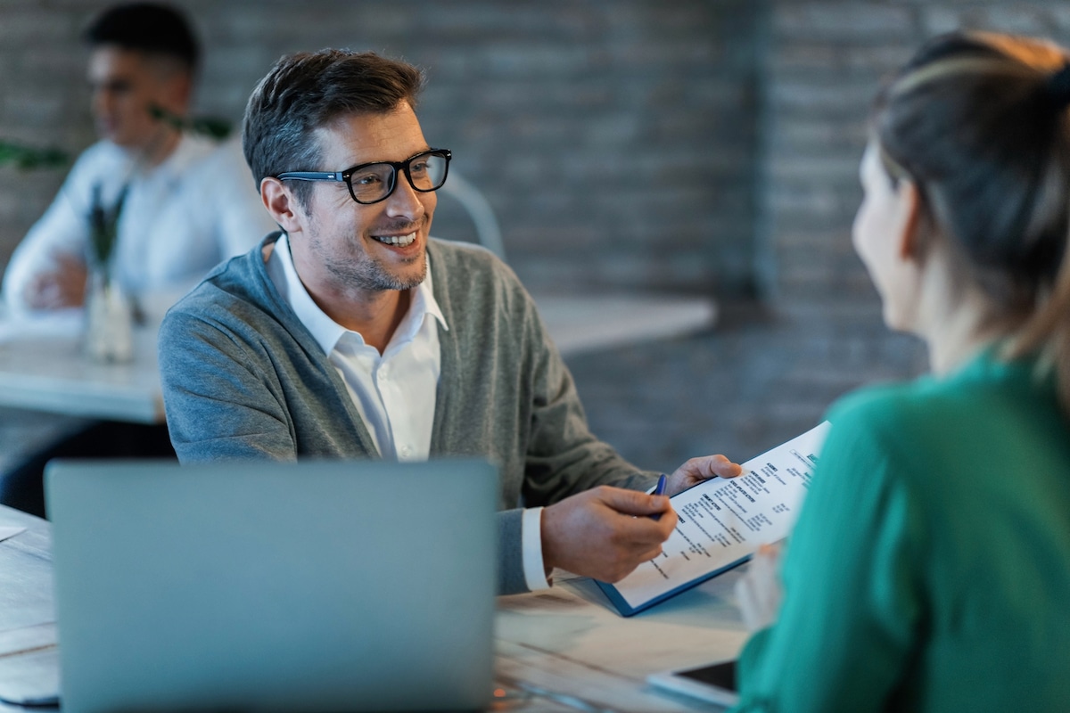
[[[599,485],[542,509],[542,563],[548,574],[620,582],[660,555],[675,527],[668,497]]]

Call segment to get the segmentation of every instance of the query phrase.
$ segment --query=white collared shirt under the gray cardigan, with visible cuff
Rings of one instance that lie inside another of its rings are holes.
[[[379,453],[399,461],[427,460],[442,369],[435,322],[449,329],[434,299],[431,270],[412,291],[409,311],[381,355],[312,300],[297,277],[286,234],[268,259],[268,275],[338,370]],[[541,514],[541,508],[531,508],[521,520],[524,578],[533,590],[550,586],[542,565]]]

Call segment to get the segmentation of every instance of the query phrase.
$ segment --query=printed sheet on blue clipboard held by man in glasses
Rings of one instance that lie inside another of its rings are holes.
[[[672,506],[679,522],[662,554],[615,585],[599,586],[622,614],[635,614],[743,562],[759,545],[786,537],[829,428],[825,421],[747,461],[738,478],[707,480],[675,495]],[[624,601],[615,601],[616,595]]]

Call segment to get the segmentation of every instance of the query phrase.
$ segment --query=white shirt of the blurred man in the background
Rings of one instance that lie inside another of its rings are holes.
[[[102,202],[110,207],[127,182],[116,275],[157,316],[217,263],[276,230],[236,139],[220,144],[184,135],[171,155],[150,169],[137,168],[129,152],[100,141],[78,157],[12,255],[3,292],[13,311],[29,311],[26,290],[36,276],[55,270],[57,255],[87,257],[93,187],[101,186]]]

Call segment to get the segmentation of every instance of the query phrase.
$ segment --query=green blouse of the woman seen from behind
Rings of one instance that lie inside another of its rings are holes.
[[[1070,711],[1070,424],[1031,362],[838,403],[737,711]]]

